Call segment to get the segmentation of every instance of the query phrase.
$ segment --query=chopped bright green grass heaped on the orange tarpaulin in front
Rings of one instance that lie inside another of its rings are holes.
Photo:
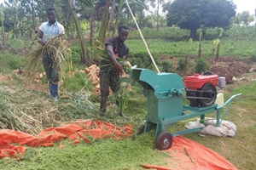
[[[28,148],[22,161],[0,160],[1,169],[144,169],[142,165],[166,165],[170,158],[154,149],[154,134],[144,133],[134,139],[103,139],[86,144],[68,140],[49,148]]]

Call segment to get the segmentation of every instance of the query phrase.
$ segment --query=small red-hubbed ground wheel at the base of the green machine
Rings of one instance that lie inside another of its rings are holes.
[[[168,150],[172,147],[172,133],[160,133],[156,140],[155,146],[158,150]]]

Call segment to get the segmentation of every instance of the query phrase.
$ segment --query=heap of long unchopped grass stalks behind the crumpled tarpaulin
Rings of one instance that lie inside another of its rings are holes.
[[[90,102],[88,94],[63,94],[52,102],[48,92],[19,87],[0,86],[0,128],[37,135],[48,127],[78,119],[97,119],[124,124],[118,115],[102,115],[99,106]],[[115,119],[112,120],[112,117]],[[126,123],[125,123],[126,124]]]

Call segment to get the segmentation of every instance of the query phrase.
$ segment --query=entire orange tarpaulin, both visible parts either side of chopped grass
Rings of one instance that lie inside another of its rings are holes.
[[[80,139],[90,143],[90,140],[86,138],[87,135],[98,139],[121,139],[130,137],[133,133],[131,126],[116,127],[111,123],[91,120],[79,120],[66,123],[61,127],[49,127],[38,136],[2,129],[0,130],[0,158],[19,156],[21,159],[26,151],[23,144],[31,147],[52,146],[56,141],[67,138],[73,140],[74,144],[79,143]],[[63,148],[62,144],[60,148]],[[236,170],[236,167],[223,156],[183,137],[174,137],[172,148],[163,151],[170,155],[167,166],[143,165],[143,167],[157,170]]]

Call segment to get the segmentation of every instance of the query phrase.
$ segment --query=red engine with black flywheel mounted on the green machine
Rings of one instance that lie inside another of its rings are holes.
[[[218,76],[195,74],[185,78],[186,98],[195,107],[213,105],[217,98]]]

